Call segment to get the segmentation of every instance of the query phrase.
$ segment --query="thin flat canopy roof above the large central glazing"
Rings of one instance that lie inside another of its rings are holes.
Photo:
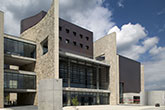
[[[73,58],[73,59],[80,59],[80,60],[84,60],[84,61],[87,61],[87,62],[91,62],[91,63],[95,63],[95,64],[110,67],[110,65],[107,64],[107,63],[104,63],[104,62],[101,62],[101,61],[98,61],[98,60],[95,60],[95,59],[91,59],[91,58],[88,58],[88,57],[84,57],[84,56],[80,56],[80,55],[76,55],[76,54],[72,54],[72,53],[68,53],[68,52],[62,52],[62,51],[59,51],[59,54],[61,56],[70,57],[70,58]]]

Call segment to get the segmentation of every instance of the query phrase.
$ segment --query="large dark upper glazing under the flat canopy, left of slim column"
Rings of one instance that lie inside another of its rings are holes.
[[[60,78],[64,87],[96,89],[96,67],[67,58],[60,58]]]

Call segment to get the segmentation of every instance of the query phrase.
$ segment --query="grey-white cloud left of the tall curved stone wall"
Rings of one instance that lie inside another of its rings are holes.
[[[48,10],[52,0],[0,0],[0,10],[5,14],[5,33],[19,36],[20,21],[41,10]]]

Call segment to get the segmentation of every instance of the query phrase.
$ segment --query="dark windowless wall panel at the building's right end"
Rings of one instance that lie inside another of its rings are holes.
[[[141,65],[139,62],[119,55],[120,82],[124,83],[124,93],[140,93]]]

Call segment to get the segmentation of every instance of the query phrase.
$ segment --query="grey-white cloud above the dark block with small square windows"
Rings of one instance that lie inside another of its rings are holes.
[[[70,22],[94,32],[97,40],[108,32],[115,23],[111,21],[112,12],[103,7],[103,0],[61,0],[60,16]]]

